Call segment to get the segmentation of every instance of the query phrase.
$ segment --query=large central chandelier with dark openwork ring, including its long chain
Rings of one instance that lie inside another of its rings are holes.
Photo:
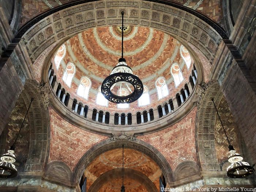
[[[131,103],[140,98],[143,84],[138,76],[133,75],[131,67],[124,59],[124,11],[122,14],[122,57],[110,75],[102,82],[101,93],[113,103]]]

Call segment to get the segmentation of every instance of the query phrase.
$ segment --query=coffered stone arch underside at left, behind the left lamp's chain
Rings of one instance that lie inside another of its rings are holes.
[[[35,80],[26,80],[21,93],[26,106],[31,98],[34,101],[28,113],[30,124],[29,154],[25,165],[25,172],[44,171],[49,156],[50,122],[47,98],[42,96],[43,85]]]

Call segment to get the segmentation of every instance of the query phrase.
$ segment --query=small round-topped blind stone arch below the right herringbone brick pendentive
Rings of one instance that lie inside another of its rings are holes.
[[[193,161],[183,161],[181,162],[176,169],[174,170],[173,177],[176,181],[182,180],[187,177],[197,177],[201,178],[200,176],[200,169],[196,162]]]

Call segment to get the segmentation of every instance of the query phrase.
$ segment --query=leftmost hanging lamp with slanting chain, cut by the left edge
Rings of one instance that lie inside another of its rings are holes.
[[[34,100],[34,98],[31,98],[29,108],[30,108],[33,100]],[[29,112],[29,108],[27,109],[27,113]],[[17,169],[14,165],[14,162],[16,161],[14,150],[16,147],[15,145],[16,145],[16,141],[18,139],[20,130],[21,130],[21,128],[25,122],[25,119],[27,117],[27,113],[23,119],[21,126],[20,126],[20,129],[19,129],[18,135],[15,139],[15,142],[10,147],[10,150],[8,150],[7,153],[3,154],[0,158],[1,159],[1,161],[0,161],[0,178],[12,178],[12,177],[16,177],[18,174]]]

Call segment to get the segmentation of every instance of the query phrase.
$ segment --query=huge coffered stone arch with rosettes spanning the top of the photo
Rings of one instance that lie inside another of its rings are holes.
[[[106,5],[101,5],[101,3],[107,4],[112,2],[104,1],[97,3],[97,1],[82,0],[53,8],[26,23],[19,30],[16,39],[23,39],[31,62],[34,65],[39,65],[41,69],[42,67],[39,63],[44,63],[43,61],[46,59],[48,53],[52,50],[57,50],[57,47],[73,35],[92,27],[110,26],[120,23],[120,19],[105,16],[106,10],[100,19],[98,16],[95,19],[95,15],[98,14],[96,11],[105,9]],[[127,1],[127,3],[130,4],[131,2]],[[220,41],[227,39],[226,31],[217,23],[190,8],[162,0],[136,1],[132,3],[134,5],[126,5],[126,10],[131,11],[134,8],[142,8],[145,9],[146,15],[143,16],[140,13],[137,19],[135,19],[136,17],[126,17],[124,20],[125,24],[153,27],[154,29],[164,31],[177,38],[186,47],[190,47],[189,44],[195,46],[198,52],[204,55],[210,62],[215,57]],[[79,11],[76,11],[72,6],[76,6]],[[116,8],[115,5],[109,5],[107,7]],[[152,15],[150,12],[152,12]],[[79,13],[80,21],[76,24],[74,17],[79,15]],[[94,15],[94,18],[85,21],[86,17],[81,17],[81,13],[90,13]],[[63,18],[61,15],[64,15]],[[165,15],[165,18],[162,18],[163,15]],[[106,23],[106,18],[108,18],[108,24]],[[173,23],[171,23],[172,18]],[[67,19],[69,19],[71,25],[65,23]],[[202,43],[197,39],[199,35],[202,35],[201,38],[203,37]],[[49,58],[46,60],[48,62],[50,61]],[[35,66],[35,68],[38,68],[38,66]],[[37,77],[38,81],[40,81],[39,78],[41,78],[42,71],[41,69],[41,71],[37,72],[37,76],[39,76]]]

